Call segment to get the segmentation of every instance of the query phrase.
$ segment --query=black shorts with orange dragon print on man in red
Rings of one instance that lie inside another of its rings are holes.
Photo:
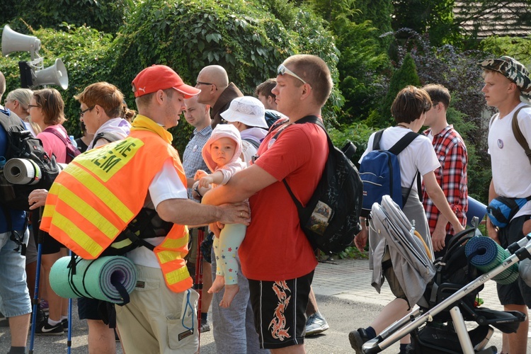
[[[306,307],[314,271],[275,282],[249,279],[254,326],[260,347],[285,348],[304,343]]]

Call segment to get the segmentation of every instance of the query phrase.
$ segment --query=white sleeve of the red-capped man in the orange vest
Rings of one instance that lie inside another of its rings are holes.
[[[156,209],[160,202],[168,199],[188,199],[186,187],[181,182],[177,171],[173,167],[173,161],[167,159],[161,171],[156,173],[149,185],[149,195]]]

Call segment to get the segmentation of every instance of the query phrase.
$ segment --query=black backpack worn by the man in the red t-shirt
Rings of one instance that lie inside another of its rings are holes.
[[[314,123],[326,133],[323,123],[314,115],[296,123]],[[281,132],[277,132],[273,139],[277,139]],[[333,146],[328,133],[326,138],[329,156],[321,180],[305,207],[295,198],[285,179],[283,182],[297,205],[300,225],[310,244],[314,249],[331,254],[346,249],[360,232],[363,185],[358,169],[344,153],[353,154],[354,145],[348,142],[342,151]]]

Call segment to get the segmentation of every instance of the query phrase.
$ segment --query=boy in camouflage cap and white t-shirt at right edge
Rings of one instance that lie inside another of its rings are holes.
[[[513,119],[527,142],[531,142],[531,108],[520,96],[531,98],[529,72],[520,62],[507,56],[478,62],[484,69],[484,93],[487,105],[498,108],[489,127],[492,181],[489,202],[501,195],[507,198],[526,198],[531,195],[531,164],[513,133]],[[518,173],[515,170],[518,169]],[[487,222],[489,236],[505,249],[531,232],[531,202],[527,202],[503,228]],[[498,284],[498,298],[506,311],[516,310],[527,315],[531,307],[531,287],[518,277],[510,285]],[[526,353],[529,321],[520,324],[516,333],[504,334],[502,353]]]

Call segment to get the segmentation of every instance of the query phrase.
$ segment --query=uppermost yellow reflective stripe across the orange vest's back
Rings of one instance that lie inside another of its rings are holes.
[[[123,222],[129,222],[129,220],[135,216],[135,213],[132,212],[124,203],[122,203],[122,201],[116,195],[114,195],[113,192],[111,192],[107,187],[105,187],[103,183],[99,182],[90,173],[84,171],[84,169],[81,169],[81,167],[76,166],[75,164],[70,164],[68,167],[70,166],[72,166],[72,168],[64,169],[63,173],[69,173],[69,175],[76,178],[79,183],[82,183],[86,186],[86,188],[89,188],[91,192],[94,193],[94,195],[96,195],[96,197],[98,197],[101,202],[107,205],[110,210],[113,210],[113,212],[115,212],[115,214],[120,217]],[[70,207],[78,211],[81,215],[84,215],[84,213],[86,212],[77,205],[69,205]]]

